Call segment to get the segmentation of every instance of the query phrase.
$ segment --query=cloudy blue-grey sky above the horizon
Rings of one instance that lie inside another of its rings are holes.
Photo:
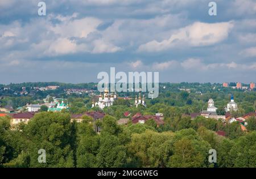
[[[99,82],[159,72],[160,82],[256,82],[256,1],[0,0],[0,83]]]

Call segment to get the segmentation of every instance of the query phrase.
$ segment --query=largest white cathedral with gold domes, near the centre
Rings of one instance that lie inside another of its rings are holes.
[[[109,107],[111,105],[113,105],[114,100],[117,99],[117,95],[116,93],[110,94],[109,90],[107,88],[105,88],[104,90],[104,95],[102,96],[102,94],[100,93],[100,96],[98,97],[98,102],[92,104],[92,108],[93,107],[99,107],[101,109],[104,109],[105,107]]]

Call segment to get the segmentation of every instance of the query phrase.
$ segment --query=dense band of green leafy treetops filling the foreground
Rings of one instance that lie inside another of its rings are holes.
[[[172,109],[170,109],[172,110]],[[165,125],[154,122],[117,125],[105,116],[93,129],[92,119],[71,122],[68,113],[42,112],[27,125],[10,130],[8,118],[0,119],[1,167],[256,167],[256,120],[250,131],[238,123],[179,113],[166,114]],[[214,131],[222,129],[227,137]],[[38,162],[38,151],[46,151],[46,163]],[[208,151],[217,151],[217,163],[208,161]]]

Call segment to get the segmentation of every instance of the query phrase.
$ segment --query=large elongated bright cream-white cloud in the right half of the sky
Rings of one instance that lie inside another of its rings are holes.
[[[228,37],[232,22],[226,23],[201,23],[196,22],[185,28],[179,29],[171,35],[170,39],[163,41],[150,41],[139,46],[139,52],[159,52],[177,45],[205,46],[220,42]]]

